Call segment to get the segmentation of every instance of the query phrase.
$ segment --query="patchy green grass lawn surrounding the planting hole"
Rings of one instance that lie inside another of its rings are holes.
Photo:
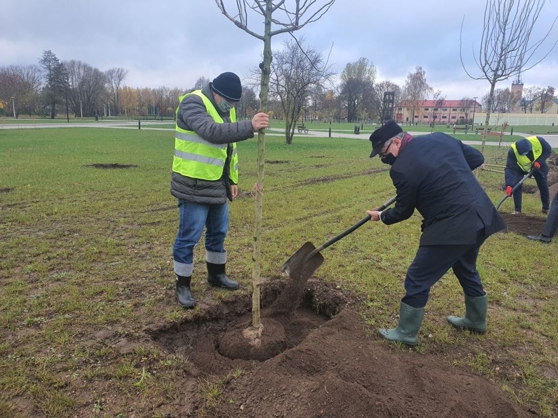
[[[248,293],[256,140],[238,148],[228,272]],[[142,345],[122,354],[95,337],[110,328],[133,342],[154,320],[196,314],[174,296],[173,149],[168,131],[0,129],[0,416],[13,416],[11,402],[28,402],[44,416],[161,416],[158,407],[180,390],[184,359]],[[305,241],[323,244],[395,193],[388,167],[368,158],[368,140],[295,135],[289,146],[268,137],[266,149],[264,277],[279,278]],[[486,152],[487,162],[501,163],[507,148]],[[91,167],[109,163],[132,167]],[[498,202],[503,175],[483,172],[480,180]],[[511,210],[509,202],[503,208]],[[523,212],[539,216],[540,201],[525,193]],[[362,296],[358,309],[367,323],[396,324],[420,220],[415,213],[389,227],[364,225],[324,250],[316,276]],[[489,295],[487,334],[456,332],[446,323],[446,315],[463,312],[460,286],[448,274],[432,289],[415,355],[480,373],[520,404],[556,416],[557,251],[556,240],[490,237],[478,263]],[[230,297],[204,285],[204,260],[196,247],[196,298]]]

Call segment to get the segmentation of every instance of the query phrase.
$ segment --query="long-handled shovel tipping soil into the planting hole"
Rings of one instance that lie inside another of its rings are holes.
[[[393,196],[382,206],[378,207],[378,211],[383,211],[386,207],[395,202],[396,196]],[[347,231],[342,232],[338,236],[332,238],[324,245],[316,248],[314,244],[307,241],[302,245],[295,254],[291,255],[285,264],[283,264],[282,269],[295,281],[304,282],[310,278],[310,276],[319,268],[319,266],[324,262],[324,257],[320,254],[320,251],[329,247],[331,244],[339,241],[341,238],[349,235],[354,230],[363,226],[366,222],[371,220],[371,216],[367,215],[364,219],[355,223]]]

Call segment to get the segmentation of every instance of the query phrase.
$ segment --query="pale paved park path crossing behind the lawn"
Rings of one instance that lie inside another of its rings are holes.
[[[150,128],[150,125],[168,125],[169,121],[156,121],[156,120],[146,120],[142,121],[141,126],[143,130],[169,130],[174,131],[174,128]],[[114,122],[99,122],[99,123],[26,123],[26,124],[4,124],[0,129],[42,129],[42,128],[109,128],[109,129],[138,129],[137,121],[114,121]],[[425,135],[427,132],[409,132],[413,136]],[[296,134],[296,133],[295,133]],[[516,132],[519,137],[528,137],[531,134],[525,134],[521,132]],[[284,134],[279,130],[272,130],[267,132],[267,135],[271,137],[283,137]],[[327,131],[321,130],[309,130],[307,134],[298,134],[305,137],[328,137]],[[456,133],[456,135],[464,135],[463,133]],[[542,135],[541,135],[542,136]],[[352,130],[347,130],[347,133],[332,132],[331,138],[362,138],[368,139],[368,133],[354,134]],[[558,148],[558,135],[543,135],[543,138],[551,145],[552,148]],[[469,145],[480,145],[481,141],[465,140],[465,144]],[[504,141],[503,143],[508,143]],[[487,142],[486,145],[498,145],[498,142]]]

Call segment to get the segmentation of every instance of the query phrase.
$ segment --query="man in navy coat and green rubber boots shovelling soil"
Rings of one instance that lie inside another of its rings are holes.
[[[450,268],[465,294],[465,315],[448,321],[484,332],[488,303],[477,256],[484,240],[506,225],[472,173],[483,164],[482,153],[444,133],[413,138],[393,120],[376,129],[370,140],[370,157],[379,155],[391,165],[389,176],[397,188],[395,207],[367,211],[372,221],[391,225],[415,209],[424,218],[419,249],[405,278],[399,324],[379,332],[388,341],[417,344],[430,287]]]

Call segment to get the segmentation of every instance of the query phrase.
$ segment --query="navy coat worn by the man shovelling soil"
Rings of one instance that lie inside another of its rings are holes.
[[[397,188],[395,207],[382,212],[388,225],[418,210],[420,245],[477,242],[480,221],[488,237],[506,227],[472,170],[484,162],[475,148],[444,133],[415,137],[400,150],[389,170]]]

